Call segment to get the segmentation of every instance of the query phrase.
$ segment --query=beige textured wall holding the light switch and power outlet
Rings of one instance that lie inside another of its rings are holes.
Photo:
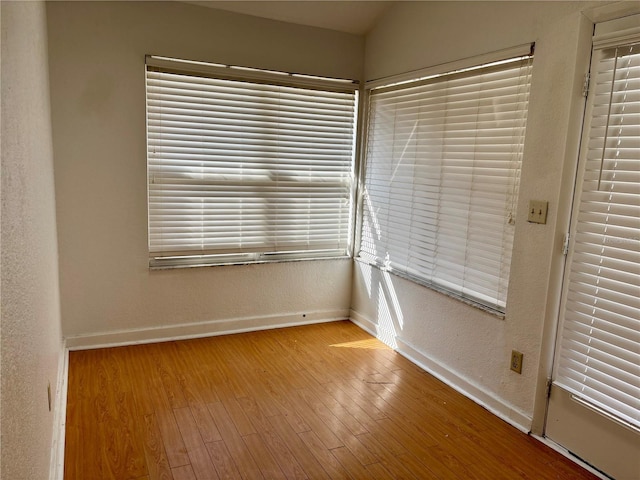
[[[518,211],[526,212],[531,199],[547,200],[549,215],[546,225],[529,224],[524,213],[518,215],[506,318],[360,264],[352,304],[361,325],[379,330],[401,351],[524,430],[544,404],[550,366],[553,335],[548,332],[557,312],[560,246],[592,27],[581,14],[587,6],[402,2],[366,41],[366,79],[536,42]],[[522,375],[509,370],[512,349],[524,353]]]

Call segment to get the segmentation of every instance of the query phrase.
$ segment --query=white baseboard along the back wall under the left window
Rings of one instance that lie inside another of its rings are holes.
[[[161,327],[116,330],[112,332],[67,337],[69,350],[119,347],[144,343],[158,343],[191,338],[213,337],[234,333],[254,332],[273,328],[294,327],[326,323],[349,318],[349,310],[323,310],[317,312],[269,315],[261,317],[230,318],[205,322],[165,325]]]

